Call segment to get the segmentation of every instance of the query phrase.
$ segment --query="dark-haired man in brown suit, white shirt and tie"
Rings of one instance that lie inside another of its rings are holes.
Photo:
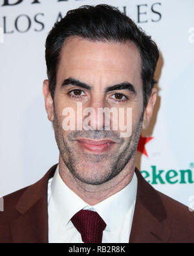
[[[43,95],[59,163],[5,196],[1,242],[194,242],[193,213],[135,168],[156,101],[158,55],[151,38],[108,5],[71,10],[54,25]]]

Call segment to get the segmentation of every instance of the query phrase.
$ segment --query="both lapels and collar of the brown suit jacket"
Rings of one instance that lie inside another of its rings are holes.
[[[10,224],[12,242],[48,242],[48,180],[54,176],[54,165],[34,185],[27,187],[16,205],[19,216]],[[170,231],[163,224],[166,211],[158,192],[136,169],[138,189],[129,242],[167,242]]]

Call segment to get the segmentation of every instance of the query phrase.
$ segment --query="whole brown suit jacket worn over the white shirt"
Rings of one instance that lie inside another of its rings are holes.
[[[56,165],[34,185],[4,197],[1,243],[48,242],[47,185],[55,170]],[[156,191],[135,171],[138,190],[129,242],[194,242],[194,211]]]

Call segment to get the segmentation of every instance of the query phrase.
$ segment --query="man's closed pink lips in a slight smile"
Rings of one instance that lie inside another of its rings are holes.
[[[116,143],[109,139],[102,141],[92,141],[90,139],[78,139],[77,140],[81,148],[89,150],[93,153],[102,153],[107,150],[110,150]]]

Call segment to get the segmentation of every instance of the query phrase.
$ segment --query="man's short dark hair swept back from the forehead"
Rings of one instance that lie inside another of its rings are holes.
[[[70,36],[80,36],[92,41],[133,41],[142,58],[142,81],[144,107],[156,83],[154,73],[159,52],[156,43],[138,28],[136,24],[122,14],[117,8],[109,5],[84,5],[69,10],[67,15],[54,24],[46,40],[45,58],[49,89],[54,99],[56,73],[58,70],[61,48]]]

